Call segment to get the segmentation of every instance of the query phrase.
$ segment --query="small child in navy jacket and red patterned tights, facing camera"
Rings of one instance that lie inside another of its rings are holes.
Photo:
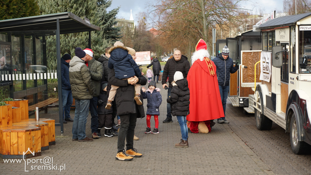
[[[152,133],[152,134],[158,134],[159,133],[159,115],[160,115],[160,110],[159,107],[162,103],[162,96],[160,94],[160,89],[156,88],[156,82],[151,81],[148,84],[148,89],[146,90],[145,87],[142,87],[142,97],[144,99],[147,99],[147,128],[145,133]],[[151,116],[154,116],[155,118],[155,128],[151,132],[150,128],[150,119]]]

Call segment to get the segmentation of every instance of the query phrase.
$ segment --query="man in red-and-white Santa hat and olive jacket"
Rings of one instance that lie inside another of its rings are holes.
[[[100,94],[100,81],[104,74],[104,67],[99,61],[93,58],[93,51],[91,49],[83,50],[86,53],[86,65],[90,69],[91,79],[94,87],[93,98],[90,100],[91,111],[91,130],[92,138],[99,139],[98,130],[98,115],[97,115],[97,100]]]

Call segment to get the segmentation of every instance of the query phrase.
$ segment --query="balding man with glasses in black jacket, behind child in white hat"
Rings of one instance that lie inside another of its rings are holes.
[[[165,88],[165,86],[167,87],[166,79],[167,79],[167,76],[169,76],[169,86],[168,86],[167,97],[170,97],[171,95],[171,89],[173,87],[172,82],[174,81],[175,72],[180,71],[183,73],[183,77],[187,78],[189,69],[190,69],[190,63],[188,61],[188,58],[185,55],[182,55],[180,50],[175,50],[173,59],[167,60],[164,66],[163,75],[162,75],[162,87],[163,88]],[[173,122],[172,114],[171,114],[171,105],[167,103],[166,108],[167,108],[167,114],[166,114],[166,119],[163,121],[163,123]]]

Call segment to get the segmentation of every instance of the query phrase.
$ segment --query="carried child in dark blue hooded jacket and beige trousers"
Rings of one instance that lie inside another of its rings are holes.
[[[134,49],[129,47],[124,47],[124,44],[120,41],[114,43],[114,47],[111,47],[108,53],[110,54],[110,58],[108,61],[108,68],[114,69],[115,77],[118,79],[130,79],[134,76],[140,77],[142,72],[138,68],[135,60],[132,58],[129,52],[136,53]],[[140,100],[140,84],[133,84],[135,87],[135,97],[137,105],[142,105],[142,101]],[[114,101],[114,96],[117,93],[118,86],[111,85],[111,89],[109,92],[109,97],[106,105],[106,109],[110,109],[112,105],[112,101]]]

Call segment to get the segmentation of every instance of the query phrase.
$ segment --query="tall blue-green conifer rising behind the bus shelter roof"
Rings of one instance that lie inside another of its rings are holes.
[[[91,49],[94,52],[93,57],[96,59],[100,57],[100,54],[104,54],[105,48],[119,37],[120,29],[113,27],[118,8],[113,9],[111,12],[106,10],[111,5],[111,0],[37,0],[37,2],[43,15],[72,12],[81,19],[86,17],[90,19],[91,24],[99,26],[100,31],[91,32]],[[49,37],[48,40],[52,41],[53,37]],[[76,47],[88,48],[88,37],[88,32],[61,35],[61,55],[68,53],[74,56]],[[53,53],[55,49],[51,48],[50,50],[48,59],[55,60],[56,53]]]

